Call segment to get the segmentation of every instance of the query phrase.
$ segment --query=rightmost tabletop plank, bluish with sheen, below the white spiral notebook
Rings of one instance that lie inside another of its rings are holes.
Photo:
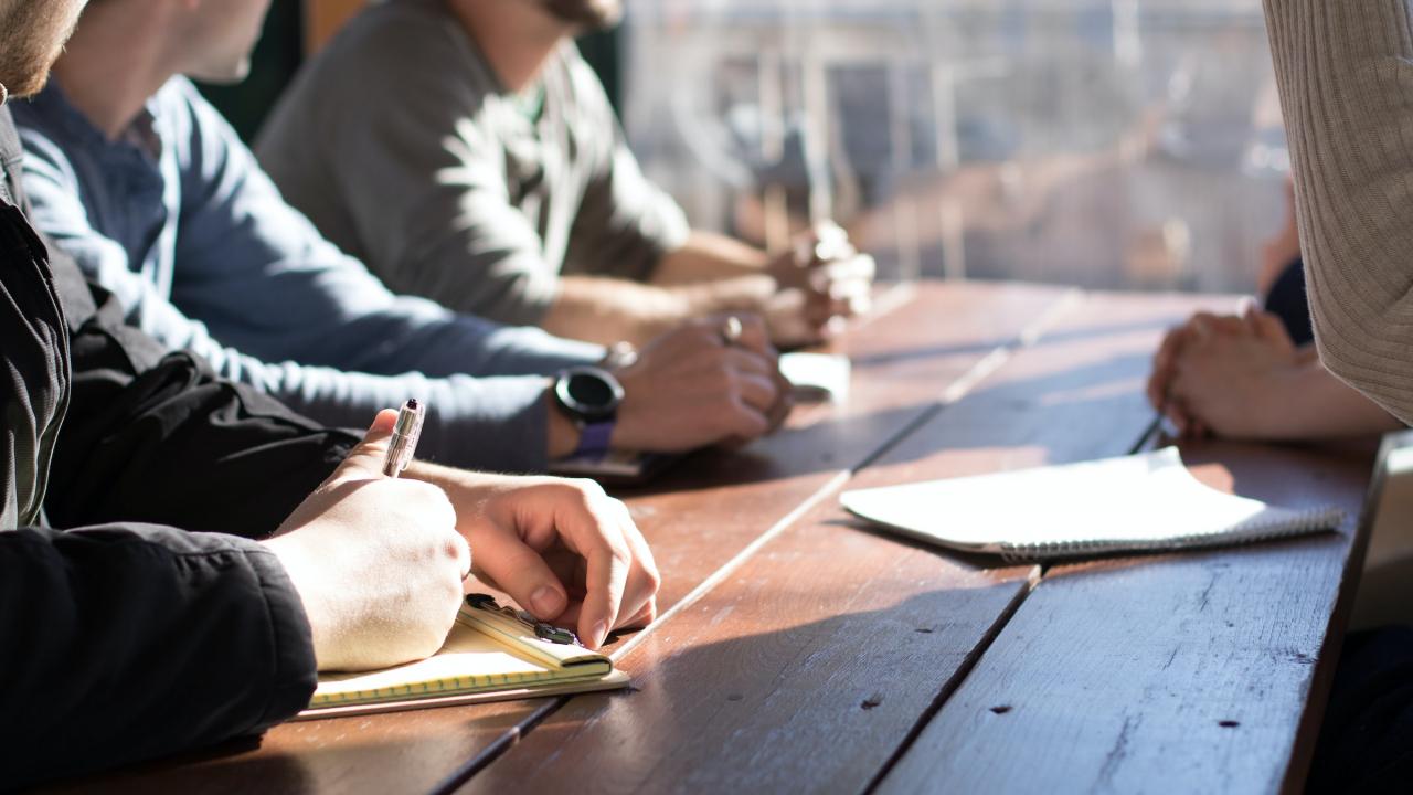
[[[1184,458],[1210,485],[1349,518],[1311,539],[1047,571],[880,792],[1303,788],[1293,750],[1308,753],[1348,615],[1371,455],[1212,443]]]

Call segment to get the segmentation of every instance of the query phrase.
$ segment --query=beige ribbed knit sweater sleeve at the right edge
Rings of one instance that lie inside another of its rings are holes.
[[[1413,423],[1413,8],[1265,4],[1320,356]]]

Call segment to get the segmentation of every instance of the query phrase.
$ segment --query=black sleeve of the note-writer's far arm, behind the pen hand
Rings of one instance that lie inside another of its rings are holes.
[[[136,521],[261,538],[357,443],[216,378],[191,354],[167,354],[66,256],[55,252],[52,269],[72,361],[45,501],[52,525]]]

